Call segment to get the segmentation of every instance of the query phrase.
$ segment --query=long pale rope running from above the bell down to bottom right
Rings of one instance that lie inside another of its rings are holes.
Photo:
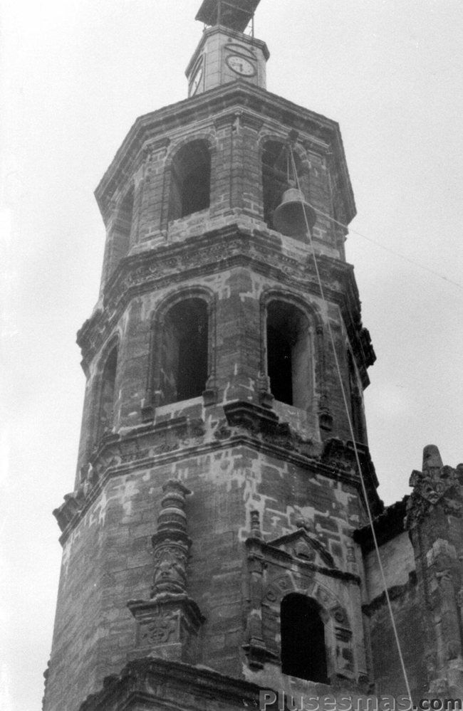
[[[303,215],[304,215],[304,220],[305,220],[305,222],[306,222],[306,230],[307,230],[306,234],[307,234],[307,236],[308,236],[308,241],[309,241],[309,244],[310,244],[310,246],[311,246],[311,251],[312,251],[312,256],[313,256],[313,263],[314,263],[314,265],[315,265],[316,277],[317,277],[317,281],[318,281],[318,288],[320,289],[322,301],[323,301],[323,303],[324,303],[324,305],[325,305],[325,307],[326,307],[326,309],[327,309],[327,312],[328,312],[328,304],[327,304],[327,302],[326,302],[325,293],[323,292],[323,284],[322,284],[322,282],[321,282],[320,272],[318,271],[318,263],[317,263],[317,259],[316,259],[315,249],[314,249],[314,247],[313,247],[311,229],[310,229],[310,227],[308,226],[308,219],[307,219],[307,214],[306,214],[306,207],[305,207],[304,201],[303,201],[303,194],[302,194],[302,192],[301,192],[301,184],[299,183],[299,177],[298,177],[298,174],[297,174],[297,171],[296,171],[296,161],[294,160],[293,149],[292,149],[292,147],[291,147],[291,144],[289,144],[289,150],[290,150],[290,152],[291,152],[291,162],[292,162],[292,166],[293,166],[293,174],[294,174],[294,177],[296,178],[296,184],[297,184],[298,190],[300,191],[300,194],[301,194],[301,207],[302,207],[302,211],[303,211]],[[308,204],[308,203],[307,203],[307,204]],[[309,205],[309,204],[308,204],[308,205]],[[312,207],[311,205],[309,205],[309,206]],[[312,209],[314,209],[314,208],[312,207]],[[340,224],[340,223],[339,223],[339,224]],[[340,372],[340,365],[339,365],[339,360],[338,360],[338,354],[336,353],[335,342],[334,342],[334,336],[333,336],[333,330],[331,329],[331,323],[330,323],[329,316],[327,316],[326,322],[327,322],[327,324],[328,324],[328,332],[329,332],[329,335],[330,335],[331,347],[333,348],[333,357],[334,357],[334,361],[335,361],[336,371],[337,371],[337,373],[338,373],[339,384],[340,384],[340,391],[341,391],[341,393],[342,393],[342,395],[343,395],[343,401],[344,401],[344,407],[345,407],[345,414],[347,415],[347,419],[348,419],[350,437],[352,438],[353,448],[354,448],[354,452],[355,452],[355,461],[356,461],[356,463],[357,463],[358,473],[359,473],[359,475],[360,475],[360,483],[361,483],[361,486],[362,486],[363,497],[364,497],[364,499],[365,499],[365,507],[366,507],[366,510],[367,510],[367,513],[368,513],[368,521],[369,521],[369,523],[370,523],[370,528],[371,528],[371,532],[372,532],[372,536],[373,536],[373,543],[374,543],[374,545],[375,545],[376,556],[378,557],[378,566],[379,566],[379,568],[380,568],[381,579],[382,579],[382,581],[383,581],[383,587],[384,587],[384,591],[385,591],[385,597],[386,597],[386,601],[387,601],[387,607],[388,607],[388,609],[389,609],[390,619],[391,619],[391,622],[392,622],[392,630],[394,631],[395,643],[396,643],[396,645],[397,645],[397,651],[398,651],[398,653],[399,653],[400,665],[401,665],[401,667],[402,667],[402,674],[403,674],[403,677],[404,677],[404,680],[405,680],[405,686],[406,686],[406,688],[407,688],[407,694],[408,694],[408,697],[409,697],[409,699],[410,699],[410,703],[412,703],[412,694],[411,694],[411,692],[410,692],[410,683],[409,683],[409,681],[408,681],[407,670],[406,670],[406,668],[405,668],[405,662],[404,662],[404,658],[403,658],[403,655],[402,655],[402,648],[401,648],[401,646],[400,646],[400,639],[399,639],[399,635],[398,635],[398,633],[397,633],[397,627],[395,626],[394,613],[392,612],[392,604],[391,604],[391,601],[390,601],[389,592],[387,591],[386,576],[385,576],[385,572],[384,572],[384,568],[383,568],[383,563],[381,562],[381,556],[380,556],[380,547],[379,547],[379,545],[378,545],[378,539],[376,538],[375,527],[374,527],[374,525],[373,525],[373,515],[372,515],[371,510],[370,510],[370,504],[369,504],[369,502],[368,502],[367,488],[366,488],[366,485],[365,485],[365,480],[363,479],[362,468],[361,468],[361,466],[360,466],[360,457],[359,457],[359,455],[358,455],[358,448],[357,448],[357,445],[356,445],[356,443],[355,443],[355,436],[354,436],[354,431],[353,431],[353,426],[352,426],[352,420],[351,420],[351,418],[350,418],[350,413],[349,413],[348,400],[347,400],[347,396],[346,396],[346,394],[345,394],[345,388],[344,388],[344,384],[343,384],[343,376],[342,376],[342,374],[341,374],[341,372]]]

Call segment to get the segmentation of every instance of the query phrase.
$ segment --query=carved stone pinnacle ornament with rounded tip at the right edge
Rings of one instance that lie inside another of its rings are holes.
[[[435,507],[443,508],[444,513],[461,517],[463,509],[462,486],[459,470],[442,465],[439,450],[429,445],[423,450],[423,470],[414,470],[410,476],[413,487],[407,502],[405,527],[417,525]]]

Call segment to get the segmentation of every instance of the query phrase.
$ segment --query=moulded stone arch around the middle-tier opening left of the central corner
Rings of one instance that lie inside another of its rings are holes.
[[[161,371],[163,335],[167,326],[166,319],[172,313],[172,310],[175,310],[184,302],[189,302],[189,305],[199,307],[199,312],[204,314],[204,326],[207,328],[207,362],[205,364],[207,374],[205,376],[204,391],[214,389],[216,379],[216,297],[212,290],[200,285],[190,285],[175,289],[157,304],[151,319],[150,354],[145,396],[145,408],[148,407],[151,411],[155,406],[163,404],[163,401],[165,401],[165,394],[162,392]],[[202,302],[204,307],[201,307],[199,302]]]

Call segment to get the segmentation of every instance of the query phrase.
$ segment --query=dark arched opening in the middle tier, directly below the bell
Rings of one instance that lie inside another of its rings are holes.
[[[267,374],[271,394],[288,405],[311,405],[312,364],[308,321],[286,301],[271,301],[267,308]]]

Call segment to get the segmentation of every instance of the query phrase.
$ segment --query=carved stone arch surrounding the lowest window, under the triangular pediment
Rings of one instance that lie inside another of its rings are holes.
[[[266,648],[281,660],[281,601],[291,593],[313,599],[318,606],[325,626],[328,678],[355,678],[353,632],[348,613],[333,591],[326,584],[315,580],[313,574],[286,571],[271,579],[264,587],[261,612]]]

